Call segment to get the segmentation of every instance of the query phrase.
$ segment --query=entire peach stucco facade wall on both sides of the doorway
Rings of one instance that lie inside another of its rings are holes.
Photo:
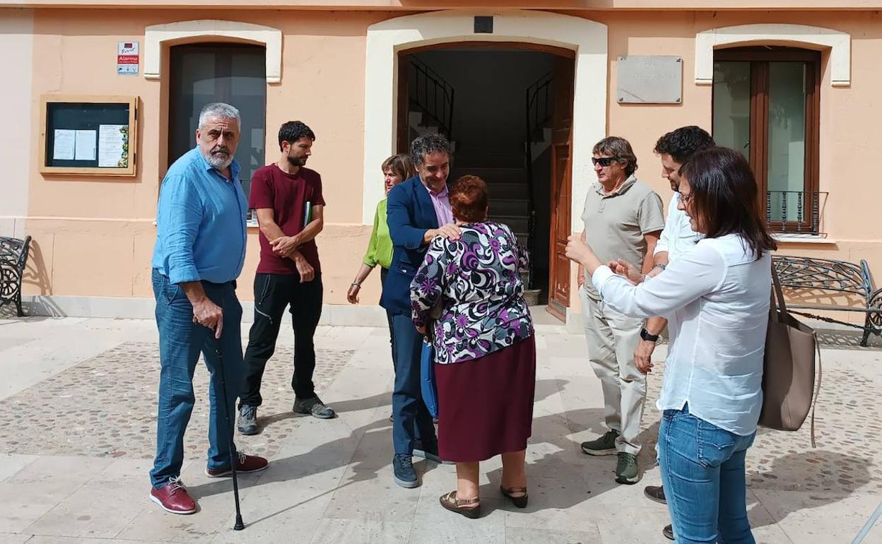
[[[150,296],[156,196],[165,164],[166,79],[119,77],[116,41],[138,40],[144,47],[149,25],[226,19],[279,28],[283,34],[281,83],[267,87],[266,161],[275,159],[279,123],[303,119],[318,134],[310,167],[325,183],[325,232],[318,239],[325,276],[325,302],[344,303],[348,283],[361,260],[370,227],[361,225],[365,35],[371,24],[401,11],[34,11],[32,127],[27,234],[34,256],[26,279],[31,294]],[[684,124],[710,129],[711,87],[693,82],[695,34],[720,26],[790,23],[819,26],[817,13],[668,11],[568,11],[609,27],[609,73],[596,74],[609,86],[610,134],[632,141],[639,177],[667,200],[654,141]],[[821,86],[820,189],[830,191],[822,227],[834,244],[785,244],[782,250],[858,260],[882,271],[882,222],[876,179],[882,164],[878,145],[878,96],[882,72],[882,25],[877,12],[829,11],[823,26],[851,34],[852,83]],[[620,105],[616,102],[617,56],[678,55],[684,58],[683,103]],[[143,52],[142,52],[143,59]],[[826,56],[824,62],[826,63]],[[141,100],[138,175],[100,178],[41,175],[37,170],[41,93],[131,94]],[[377,176],[377,183],[380,183]],[[576,195],[583,198],[584,195]],[[2,219],[2,218],[0,218]],[[256,233],[249,241],[240,294],[250,299],[257,265]],[[882,273],[882,272],[878,272]],[[378,296],[375,274],[363,303]],[[573,301],[578,306],[578,301]]]

